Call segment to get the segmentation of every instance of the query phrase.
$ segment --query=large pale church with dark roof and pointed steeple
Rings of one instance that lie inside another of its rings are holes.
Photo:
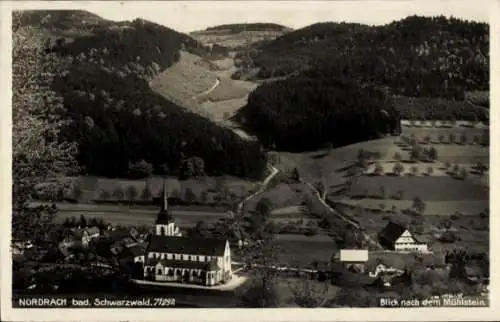
[[[229,241],[184,237],[168,211],[166,180],[162,207],[144,254],[134,258],[143,264],[144,279],[213,286],[232,278]]]

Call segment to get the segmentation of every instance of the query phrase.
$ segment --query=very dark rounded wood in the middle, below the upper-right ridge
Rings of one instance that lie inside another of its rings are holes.
[[[399,131],[384,91],[323,69],[265,83],[237,116],[266,145],[288,151],[343,146]]]

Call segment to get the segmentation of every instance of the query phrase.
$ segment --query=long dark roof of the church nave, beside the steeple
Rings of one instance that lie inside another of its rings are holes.
[[[148,251],[158,253],[223,256],[226,240],[219,238],[152,235]]]

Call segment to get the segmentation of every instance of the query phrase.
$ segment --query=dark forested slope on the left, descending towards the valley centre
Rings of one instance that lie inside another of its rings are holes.
[[[149,88],[154,75],[178,60],[179,50],[203,56],[210,54],[208,47],[144,20],[115,23],[81,11],[14,18],[15,30],[43,39],[50,87],[63,102],[50,113],[69,121],[61,139],[77,143],[86,174],[128,177],[139,167],[145,175],[261,175],[265,157],[257,143]]]

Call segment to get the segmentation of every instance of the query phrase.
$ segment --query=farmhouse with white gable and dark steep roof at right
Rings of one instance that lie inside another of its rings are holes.
[[[427,252],[427,244],[420,242],[401,224],[389,222],[378,235],[386,249],[400,252]]]

